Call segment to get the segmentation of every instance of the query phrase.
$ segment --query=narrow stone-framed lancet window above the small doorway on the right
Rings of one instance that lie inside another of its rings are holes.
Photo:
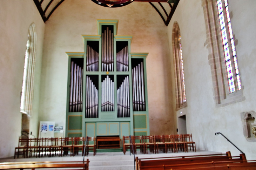
[[[173,26],[172,42],[175,72],[176,110],[178,110],[187,106],[187,99],[184,80],[181,34],[177,22],[175,22]]]

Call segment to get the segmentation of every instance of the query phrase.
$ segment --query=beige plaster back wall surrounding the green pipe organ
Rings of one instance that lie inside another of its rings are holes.
[[[40,121],[66,122],[68,57],[83,52],[81,35],[96,35],[96,19],[118,19],[118,35],[133,35],[131,52],[147,62],[150,134],[173,132],[167,27],[149,3],[106,8],[90,0],[65,0],[46,22],[40,89]]]

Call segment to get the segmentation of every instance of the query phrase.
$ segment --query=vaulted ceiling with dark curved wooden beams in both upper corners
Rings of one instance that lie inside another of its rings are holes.
[[[55,9],[58,8],[63,1],[65,0],[34,0],[44,22],[50,18]],[[168,26],[179,1],[180,0],[134,0],[134,2],[148,2],[161,16],[166,26]]]

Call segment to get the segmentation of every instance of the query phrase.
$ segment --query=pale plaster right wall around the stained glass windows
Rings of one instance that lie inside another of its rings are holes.
[[[210,66],[208,64],[208,50],[206,29],[204,23],[201,0],[181,0],[168,26],[170,46],[171,70],[173,69],[173,49],[171,36],[174,21],[181,29],[182,52],[188,107],[176,111],[177,116],[186,114],[187,132],[193,134],[197,149],[210,151],[231,151],[236,156],[240,152],[222,136],[215,136],[215,132],[222,132],[248,159],[255,159],[255,142],[247,142],[243,135],[240,113],[256,110],[255,83],[256,77],[256,11],[255,0],[229,1],[229,10],[233,14],[231,24],[233,33],[238,40],[236,46],[238,67],[245,101],[216,108],[213,99],[213,84]],[[173,72],[172,72],[173,73]],[[174,77],[174,74],[171,74]],[[173,90],[174,81],[172,82]],[[175,94],[173,94],[173,100]],[[175,102],[175,101],[174,101]]]

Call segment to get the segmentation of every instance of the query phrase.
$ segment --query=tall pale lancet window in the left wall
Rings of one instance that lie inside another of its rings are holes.
[[[33,23],[28,30],[25,64],[23,72],[20,112],[31,115],[36,55],[36,33]]]

